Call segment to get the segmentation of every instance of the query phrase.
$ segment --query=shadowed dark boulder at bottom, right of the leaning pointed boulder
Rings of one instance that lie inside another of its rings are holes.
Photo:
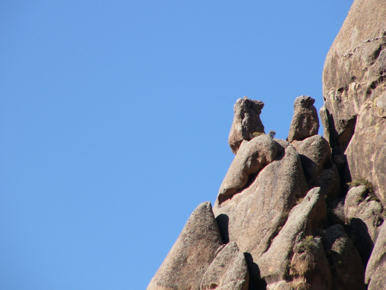
[[[363,290],[364,267],[361,257],[342,225],[333,225],[325,230],[323,240],[332,271],[334,290]]]

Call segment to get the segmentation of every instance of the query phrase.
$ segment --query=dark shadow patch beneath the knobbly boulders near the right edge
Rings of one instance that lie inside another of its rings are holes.
[[[352,218],[350,225],[347,226],[345,230],[354,246],[358,249],[363,265],[366,268],[372,249],[374,248],[374,243],[371,240],[366,223],[360,218]]]

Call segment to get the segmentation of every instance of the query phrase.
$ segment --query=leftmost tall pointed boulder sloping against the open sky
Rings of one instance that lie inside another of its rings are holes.
[[[212,206],[209,201],[201,203],[189,217],[147,290],[199,289],[203,274],[221,245]]]

